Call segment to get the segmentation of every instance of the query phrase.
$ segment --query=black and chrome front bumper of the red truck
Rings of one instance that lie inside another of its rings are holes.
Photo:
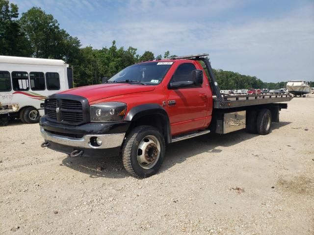
[[[122,145],[129,122],[86,123],[70,126],[40,119],[40,132],[45,141],[79,149],[106,149]],[[102,141],[100,146],[91,144],[91,138]]]

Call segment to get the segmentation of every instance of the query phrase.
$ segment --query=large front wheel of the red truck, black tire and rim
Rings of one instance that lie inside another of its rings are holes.
[[[137,178],[146,178],[156,174],[164,155],[164,138],[153,126],[135,127],[122,145],[123,165],[131,175]]]

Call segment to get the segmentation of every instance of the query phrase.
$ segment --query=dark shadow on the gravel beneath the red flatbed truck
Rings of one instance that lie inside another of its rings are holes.
[[[272,123],[272,130],[279,129],[288,124],[290,122]],[[176,164],[183,163],[186,159],[195,155],[205,152],[220,153],[222,152],[219,148],[221,146],[233,146],[241,141],[246,141],[257,136],[255,134],[248,134],[245,130],[240,130],[226,135],[208,134],[169,144],[159,172],[166,171]],[[90,178],[125,178],[130,176],[124,169],[122,160],[117,152],[110,153],[109,156],[98,155],[78,158],[67,156],[67,158],[62,160],[62,165],[89,174]]]

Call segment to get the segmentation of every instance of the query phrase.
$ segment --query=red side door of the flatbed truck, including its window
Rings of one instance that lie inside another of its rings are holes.
[[[192,63],[180,64],[169,84],[177,81],[191,81],[193,70],[196,70],[196,67]],[[206,124],[209,124],[211,94],[208,81],[204,82],[205,77],[204,75],[202,86],[190,85],[172,89],[168,84],[165,88],[167,98],[165,108],[169,114],[172,135],[204,129]]]

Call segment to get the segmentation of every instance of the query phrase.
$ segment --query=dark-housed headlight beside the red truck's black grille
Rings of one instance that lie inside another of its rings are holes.
[[[127,104],[121,102],[103,102],[90,106],[91,122],[123,121]]]

